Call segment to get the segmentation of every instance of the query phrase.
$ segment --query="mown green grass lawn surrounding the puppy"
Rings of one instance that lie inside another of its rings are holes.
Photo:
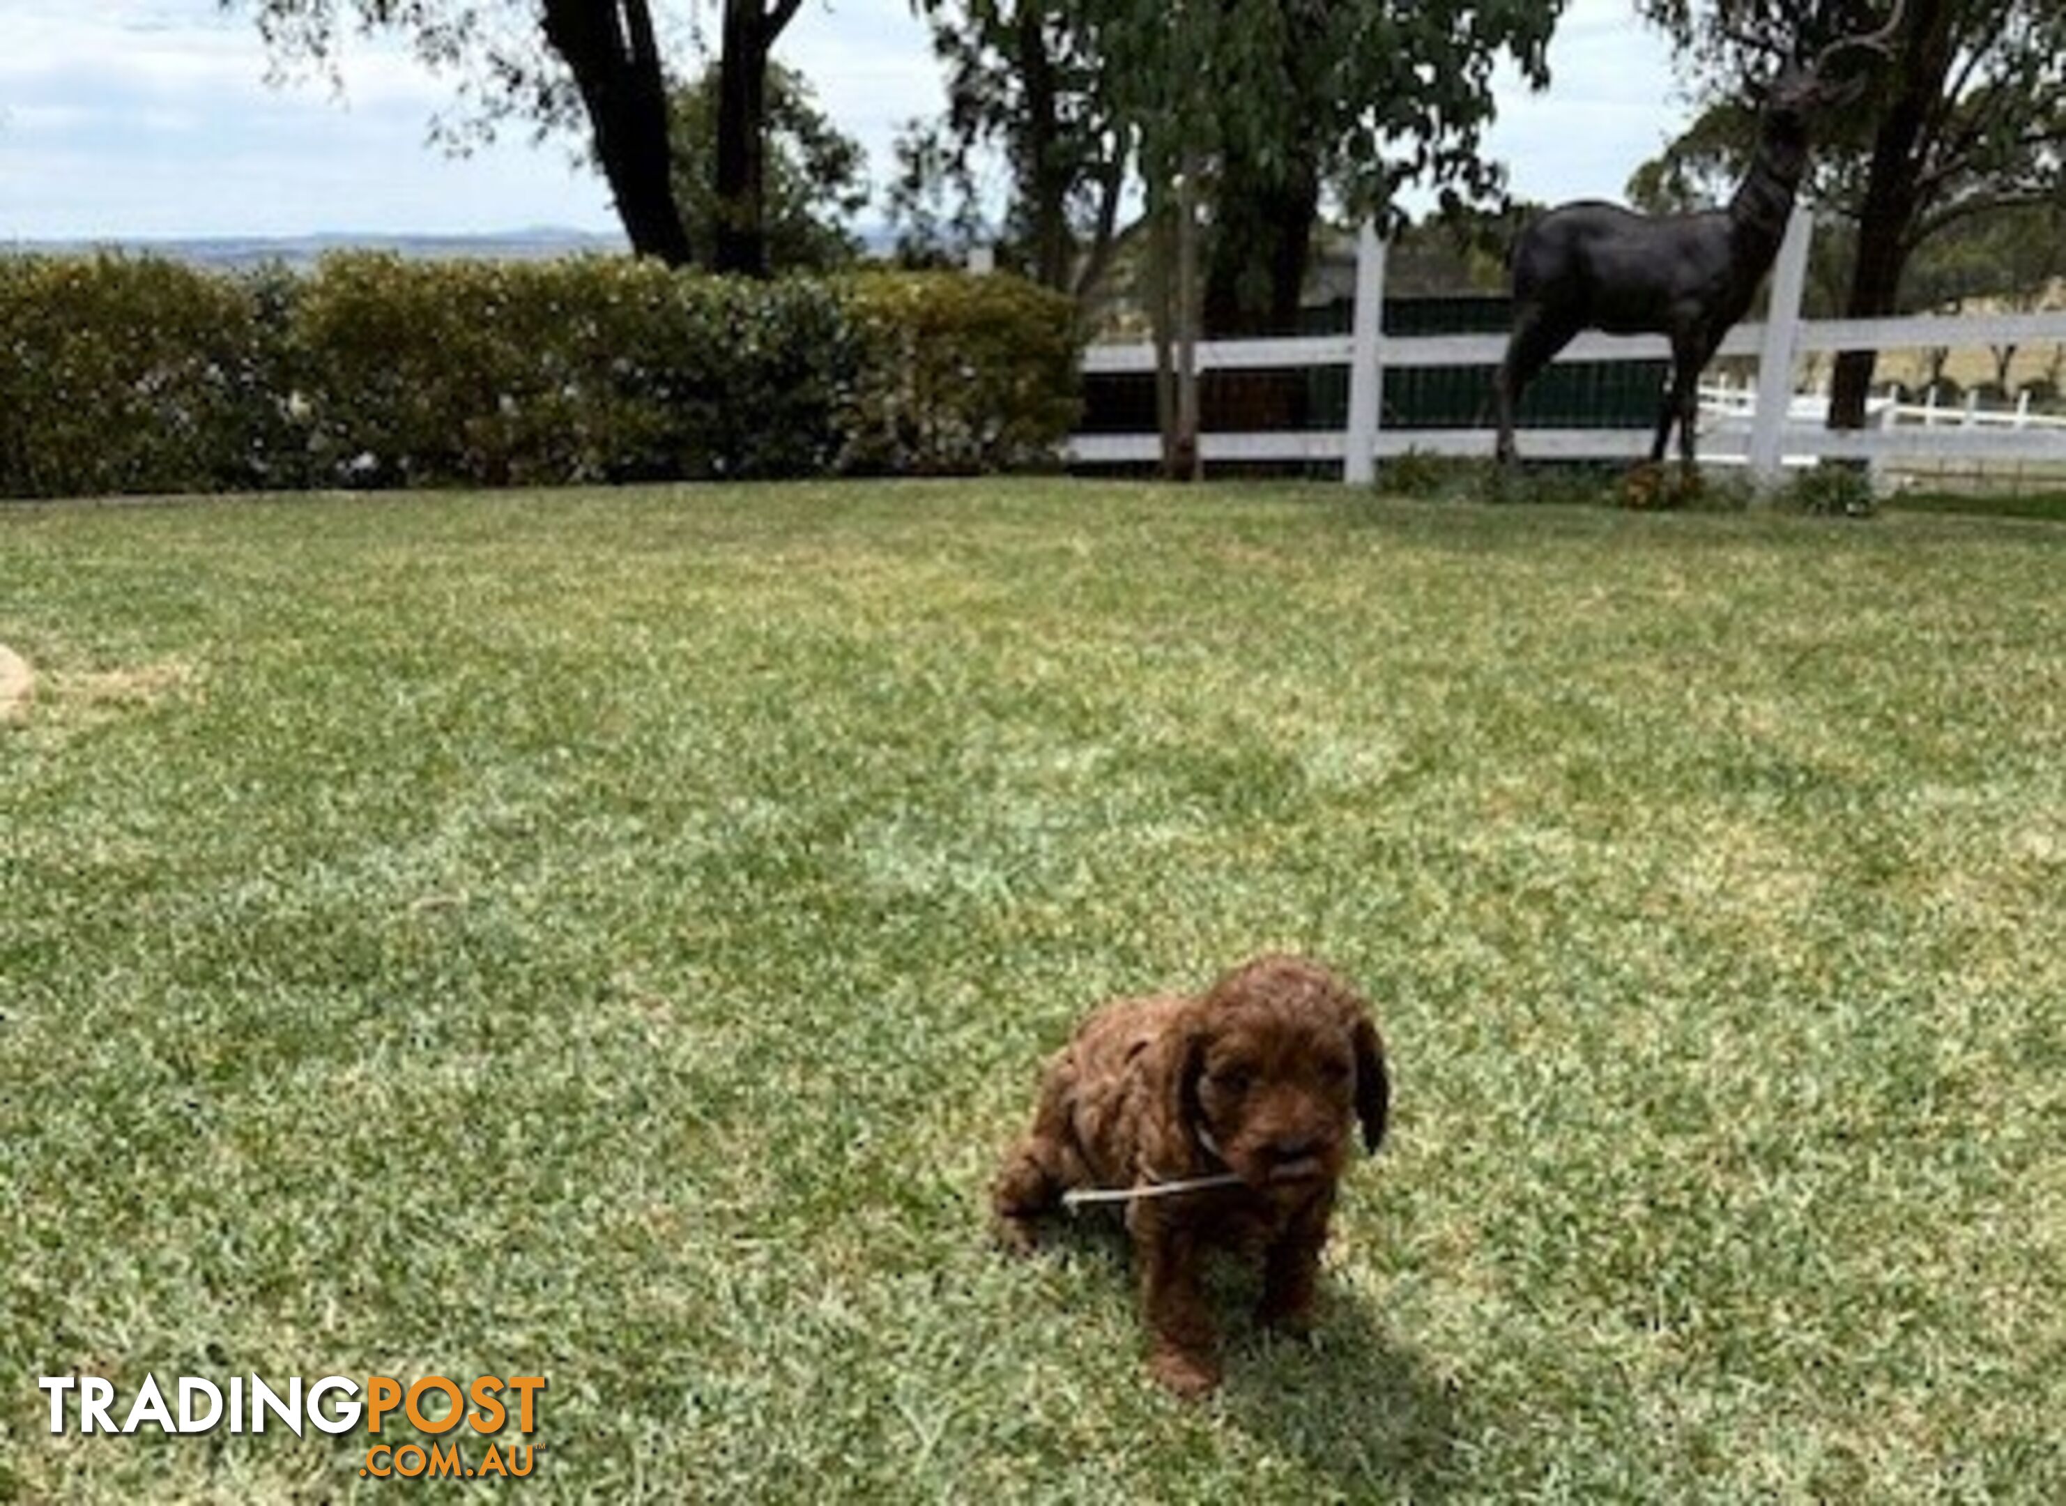
[[[35,506],[0,642],[0,1498],[434,1492],[52,1438],[70,1372],[543,1374],[597,1500],[2066,1485],[2066,531]],[[1089,1004],[1273,946],[1395,1138],[1318,1339],[1186,1407],[983,1188]]]

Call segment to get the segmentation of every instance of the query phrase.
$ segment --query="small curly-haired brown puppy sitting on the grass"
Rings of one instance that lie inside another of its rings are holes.
[[[1198,998],[1116,1000],[1047,1064],[1033,1128],[992,1188],[998,1237],[1031,1250],[1064,1192],[1136,1190],[1124,1206],[1149,1366],[1204,1394],[1219,1384],[1207,1250],[1260,1256],[1260,1322],[1304,1332],[1353,1128],[1376,1151],[1388,1103],[1368,1004],[1316,963],[1258,956]],[[1153,1194],[1215,1173],[1223,1184]]]

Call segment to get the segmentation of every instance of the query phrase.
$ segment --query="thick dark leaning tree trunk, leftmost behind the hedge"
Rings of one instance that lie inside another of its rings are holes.
[[[543,21],[589,112],[632,252],[686,266],[688,231],[667,171],[667,85],[647,0],[545,0]]]

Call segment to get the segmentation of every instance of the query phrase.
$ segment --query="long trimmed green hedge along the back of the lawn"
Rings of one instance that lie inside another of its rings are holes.
[[[1021,469],[1076,355],[1008,277],[12,256],[0,496]]]

